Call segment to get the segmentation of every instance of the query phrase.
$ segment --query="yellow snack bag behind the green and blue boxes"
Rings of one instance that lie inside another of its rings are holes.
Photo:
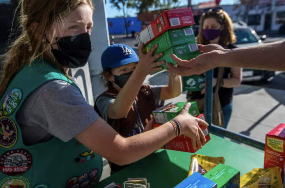
[[[209,170],[211,170],[220,163],[225,164],[224,157],[210,157],[199,154],[191,155],[191,162],[190,162],[190,169],[188,172],[188,176],[190,176],[194,172],[198,172],[201,175],[204,175],[205,173],[207,173]]]

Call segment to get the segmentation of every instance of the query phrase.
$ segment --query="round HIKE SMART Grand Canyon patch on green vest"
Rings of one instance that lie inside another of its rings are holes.
[[[0,157],[0,171],[8,176],[17,176],[32,166],[32,156],[24,149],[6,151]]]

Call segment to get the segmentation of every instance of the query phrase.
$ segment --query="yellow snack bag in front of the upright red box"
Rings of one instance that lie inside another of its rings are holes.
[[[241,177],[240,188],[282,188],[281,168],[253,169]]]

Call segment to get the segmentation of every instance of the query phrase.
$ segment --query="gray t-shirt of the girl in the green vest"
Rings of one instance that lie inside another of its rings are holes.
[[[76,83],[75,78],[71,79]],[[53,80],[37,88],[16,114],[27,146],[47,142],[54,136],[67,142],[98,117],[79,90],[62,80]]]

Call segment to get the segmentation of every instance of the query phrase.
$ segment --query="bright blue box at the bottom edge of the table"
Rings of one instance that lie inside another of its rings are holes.
[[[174,188],[217,188],[217,183],[195,172]]]

